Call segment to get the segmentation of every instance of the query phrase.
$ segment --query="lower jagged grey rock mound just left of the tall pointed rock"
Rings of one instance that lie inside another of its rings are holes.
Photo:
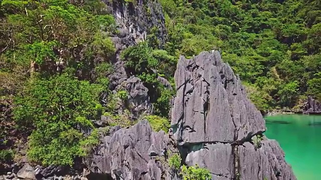
[[[85,160],[89,170],[113,179],[161,179],[168,136],[153,132],[147,120],[105,136],[92,157]]]

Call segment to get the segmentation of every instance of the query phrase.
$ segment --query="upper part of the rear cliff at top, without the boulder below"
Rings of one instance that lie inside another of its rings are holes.
[[[119,0],[103,0],[115,17],[120,33],[114,34],[112,41],[116,48],[114,59],[114,73],[110,75],[111,88],[115,88],[126,80],[127,74],[123,61],[119,59],[121,50],[130,45],[145,41],[148,29],[156,27],[158,29],[157,38],[159,47],[165,43],[166,28],[162,6],[152,0],[133,0],[133,3],[126,3]]]

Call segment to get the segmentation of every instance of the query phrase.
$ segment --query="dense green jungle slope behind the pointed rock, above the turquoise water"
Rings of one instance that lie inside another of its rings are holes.
[[[165,49],[219,49],[263,113],[321,99],[321,1],[162,0]]]

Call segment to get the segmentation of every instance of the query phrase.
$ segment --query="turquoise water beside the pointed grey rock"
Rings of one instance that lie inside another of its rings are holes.
[[[298,180],[321,179],[321,115],[265,116],[265,135],[276,139]]]

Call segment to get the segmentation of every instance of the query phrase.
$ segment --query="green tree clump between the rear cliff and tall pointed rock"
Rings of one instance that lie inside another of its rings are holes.
[[[125,49],[121,58],[125,61],[126,69],[137,75],[148,88],[148,95],[155,106],[156,114],[167,117],[173,90],[167,89],[158,76],[164,76],[173,82],[175,57],[165,50],[152,49],[147,43],[140,42]]]

